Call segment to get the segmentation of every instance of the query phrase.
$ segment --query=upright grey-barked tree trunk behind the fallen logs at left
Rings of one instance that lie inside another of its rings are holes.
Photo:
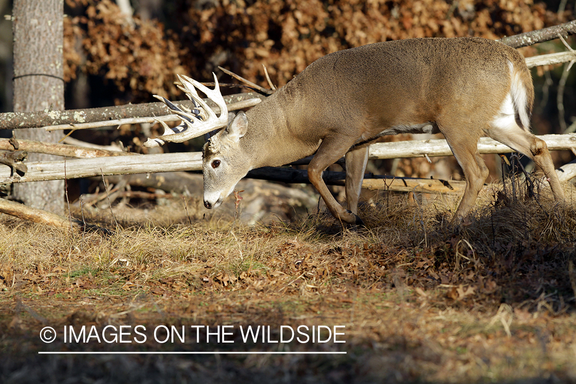
[[[14,0],[14,112],[64,109],[63,0]],[[14,131],[17,139],[58,142],[62,132],[43,129]],[[29,154],[28,161],[58,157]],[[62,215],[64,181],[42,181],[14,185],[16,200],[27,206]]]

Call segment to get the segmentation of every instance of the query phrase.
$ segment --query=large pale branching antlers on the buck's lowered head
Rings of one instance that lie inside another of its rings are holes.
[[[182,123],[177,127],[170,128],[168,124],[159,121],[162,127],[164,127],[164,134],[155,139],[146,140],[144,143],[145,147],[157,147],[165,142],[181,143],[185,140],[190,140],[217,130],[218,128],[226,127],[228,124],[228,108],[226,107],[222,93],[220,93],[218,78],[215,74],[213,75],[215,83],[214,89],[207,88],[190,77],[178,75],[178,79],[182,83],[182,86],[179,85],[178,88],[183,90],[186,96],[190,98],[195,107],[193,109],[177,107],[166,98],[156,94],[154,95],[158,100],[164,102],[164,104],[170,108],[170,111],[180,116]],[[220,116],[217,116],[206,102],[202,100],[196,88],[218,105],[218,108],[220,108]]]

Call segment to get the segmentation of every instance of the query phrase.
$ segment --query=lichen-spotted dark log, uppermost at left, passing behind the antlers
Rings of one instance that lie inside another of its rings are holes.
[[[264,98],[259,93],[237,93],[224,96],[226,104],[232,104],[249,98]],[[210,106],[211,101],[206,99]],[[176,105],[192,107],[190,100],[176,101]],[[162,102],[119,105],[118,107],[102,107],[87,109],[69,109],[67,111],[39,112],[8,112],[0,113],[0,129],[13,130],[17,128],[33,128],[56,126],[59,124],[93,123],[94,121],[128,119],[132,117],[164,116],[168,109]],[[113,125],[113,124],[110,124]],[[69,127],[70,128],[70,127]]]

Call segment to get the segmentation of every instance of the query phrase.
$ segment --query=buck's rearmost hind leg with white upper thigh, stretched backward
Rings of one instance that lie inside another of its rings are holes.
[[[560,185],[550,151],[548,151],[548,146],[544,140],[537,138],[528,129],[518,126],[513,115],[500,116],[494,119],[488,135],[532,159],[543,170],[548,183],[550,183],[554,198],[556,200],[564,199],[564,190]]]

